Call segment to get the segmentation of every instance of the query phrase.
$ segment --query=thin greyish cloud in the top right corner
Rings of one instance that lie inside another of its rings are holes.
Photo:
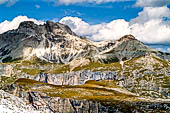
[[[170,4],[170,0],[137,0],[137,7],[161,7]]]

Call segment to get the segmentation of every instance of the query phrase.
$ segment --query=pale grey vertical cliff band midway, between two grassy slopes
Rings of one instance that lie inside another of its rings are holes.
[[[41,73],[34,80],[55,85],[82,85],[88,80],[116,80],[115,72],[92,72],[90,70],[65,74]]]

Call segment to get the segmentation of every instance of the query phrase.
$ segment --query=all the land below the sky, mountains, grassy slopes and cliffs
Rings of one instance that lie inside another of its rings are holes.
[[[0,34],[0,112],[170,111],[170,54],[126,35],[93,42],[60,23]]]

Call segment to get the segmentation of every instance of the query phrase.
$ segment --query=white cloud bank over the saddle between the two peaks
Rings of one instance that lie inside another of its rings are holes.
[[[95,41],[119,39],[130,32],[129,23],[123,19],[114,20],[110,23],[89,25],[80,18],[65,17],[60,20],[60,23],[69,25],[78,35],[88,36]]]

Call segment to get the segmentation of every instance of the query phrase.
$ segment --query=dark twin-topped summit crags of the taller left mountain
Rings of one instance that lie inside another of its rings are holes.
[[[32,21],[24,21],[21,22],[18,27],[19,33],[24,34],[45,34],[45,33],[53,33],[54,35],[63,35],[63,34],[71,34],[76,35],[67,25],[61,23],[54,23],[52,21],[47,21],[44,25],[37,25]]]

